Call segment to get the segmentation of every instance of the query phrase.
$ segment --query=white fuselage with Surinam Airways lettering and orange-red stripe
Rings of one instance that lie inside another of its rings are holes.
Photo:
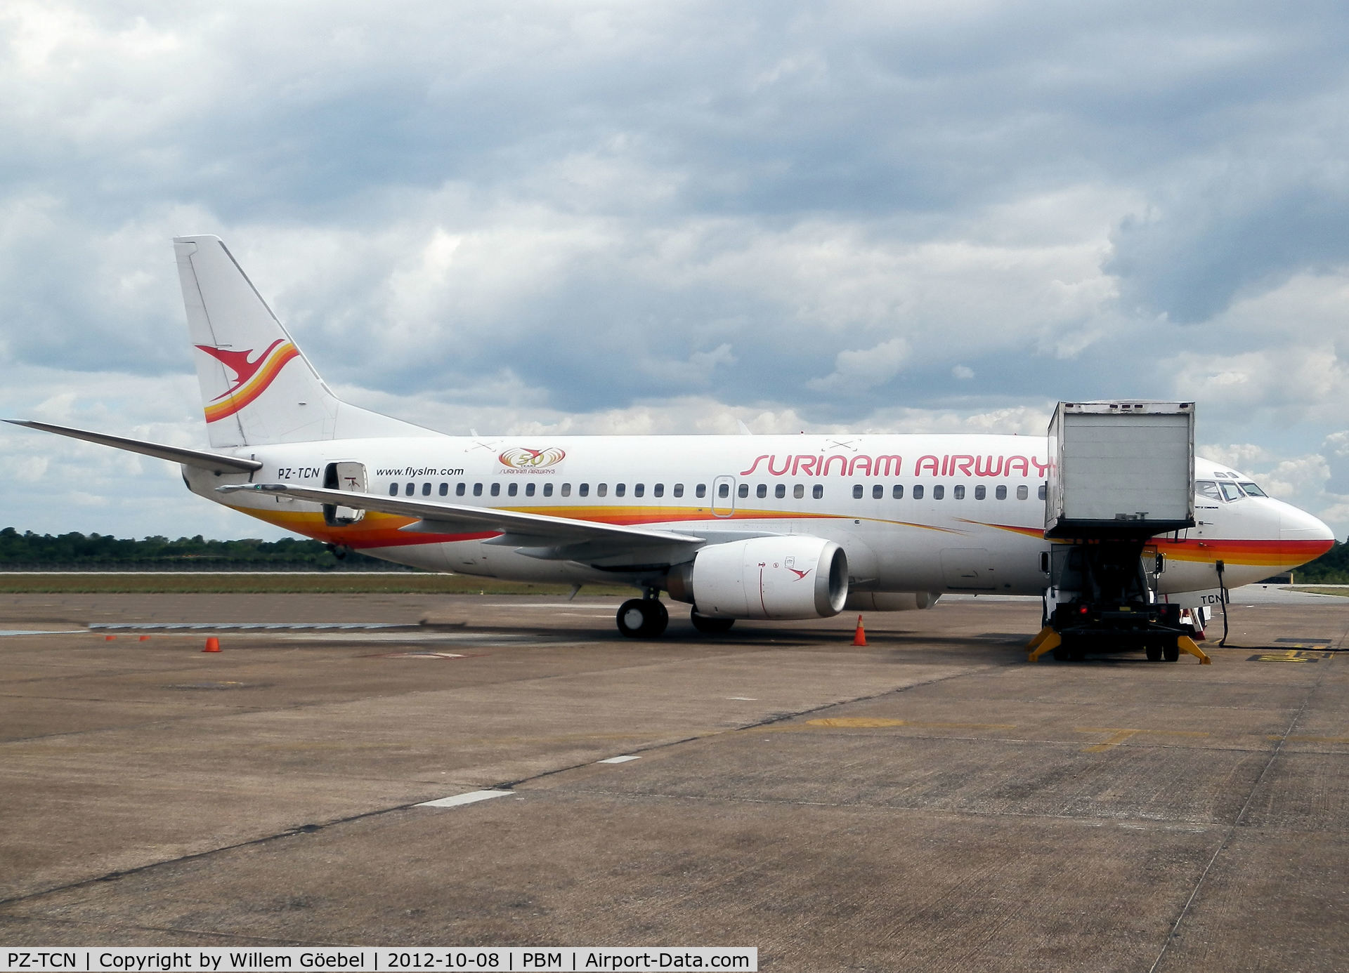
[[[236,482],[322,486],[328,464],[359,464],[372,495],[410,496],[726,540],[796,534],[847,553],[855,590],[1039,594],[1047,442],[1018,435],[422,437],[240,447],[251,476],[185,468],[201,496],[287,530],[437,571],[519,581],[630,581],[643,565],[548,561],[492,544],[495,531],[428,534],[367,513],[331,526],[317,504],[216,493]],[[1226,468],[1197,461],[1197,478]],[[1232,472],[1232,477],[1237,474]],[[1197,526],[1156,539],[1159,592],[1259,581],[1329,547],[1315,517],[1268,497],[1197,501]]]

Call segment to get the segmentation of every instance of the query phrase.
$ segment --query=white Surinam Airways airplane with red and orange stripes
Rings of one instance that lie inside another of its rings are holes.
[[[177,462],[193,493],[337,553],[631,585],[629,637],[665,631],[662,593],[708,635],[947,593],[1045,596],[1047,438],[447,435],[335,395],[220,237],[175,237],[174,253],[210,449],[9,422]],[[1195,491],[1197,524],[1149,546],[1167,565],[1156,596],[1187,609],[1334,542],[1225,464],[1195,458]]]

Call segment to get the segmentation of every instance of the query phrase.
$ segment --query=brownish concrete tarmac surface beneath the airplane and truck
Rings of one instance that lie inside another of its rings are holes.
[[[616,598],[8,594],[0,942],[1349,970],[1349,601],[1245,590],[1213,666],[1028,664],[1024,600],[855,647],[677,605],[634,643]]]

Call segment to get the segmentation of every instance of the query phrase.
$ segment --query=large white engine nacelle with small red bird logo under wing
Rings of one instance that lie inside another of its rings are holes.
[[[847,554],[823,538],[733,540],[677,565],[668,586],[714,619],[827,619],[847,601]]]

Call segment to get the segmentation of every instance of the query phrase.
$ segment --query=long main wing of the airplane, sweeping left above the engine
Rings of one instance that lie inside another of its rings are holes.
[[[649,550],[656,547],[681,548],[692,553],[706,544],[707,539],[676,531],[658,531],[646,527],[626,527],[623,524],[602,524],[595,520],[572,520],[546,513],[523,513],[502,511],[490,507],[465,507],[461,504],[441,504],[414,497],[390,497],[375,493],[353,493],[348,491],[324,489],[320,486],[297,486],[291,484],[237,484],[217,486],[220,493],[252,491],[255,493],[283,493],[297,500],[318,504],[336,504],[357,509],[379,511],[406,517],[417,517],[417,523],[405,531],[433,534],[463,534],[480,530],[502,531],[500,538],[487,543],[503,547],[530,548],[533,557],[550,559],[581,554],[583,548],[599,547],[611,551]],[[688,557],[685,554],[685,557]]]

